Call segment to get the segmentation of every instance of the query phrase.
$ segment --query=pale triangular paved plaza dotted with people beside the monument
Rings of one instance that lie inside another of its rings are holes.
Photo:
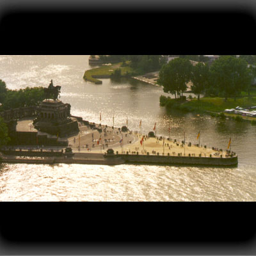
[[[18,131],[31,131],[35,132],[33,128],[33,119],[24,118],[17,124]],[[67,140],[68,145],[72,147],[73,152],[88,152],[88,153],[102,153],[104,154],[108,148],[113,148],[118,154],[154,154],[167,156],[199,156],[202,157],[226,157],[226,152],[220,152],[218,149],[212,150],[212,148],[197,147],[196,145],[189,146],[182,144],[181,141],[173,141],[165,138],[148,138],[144,135],[144,138],[138,132],[127,131],[122,132],[118,128],[108,127],[107,125],[96,125],[95,128],[101,128],[102,132],[97,129],[91,129],[90,125],[84,125],[83,122],[78,122],[79,132],[69,136],[68,138],[59,138],[58,140]],[[52,136],[51,136],[52,137]],[[143,138],[142,145],[141,139]],[[42,146],[17,146],[18,148],[26,149],[40,149]],[[17,148],[16,147],[16,148]],[[47,146],[43,147],[44,150],[61,150],[65,147]]]

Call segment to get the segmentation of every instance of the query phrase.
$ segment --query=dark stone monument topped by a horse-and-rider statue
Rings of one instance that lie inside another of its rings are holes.
[[[46,98],[36,109],[37,117],[33,121],[35,129],[56,135],[69,136],[79,132],[76,118],[70,116],[70,104],[64,104],[58,99],[61,86],[53,86],[52,80],[45,88]]]

